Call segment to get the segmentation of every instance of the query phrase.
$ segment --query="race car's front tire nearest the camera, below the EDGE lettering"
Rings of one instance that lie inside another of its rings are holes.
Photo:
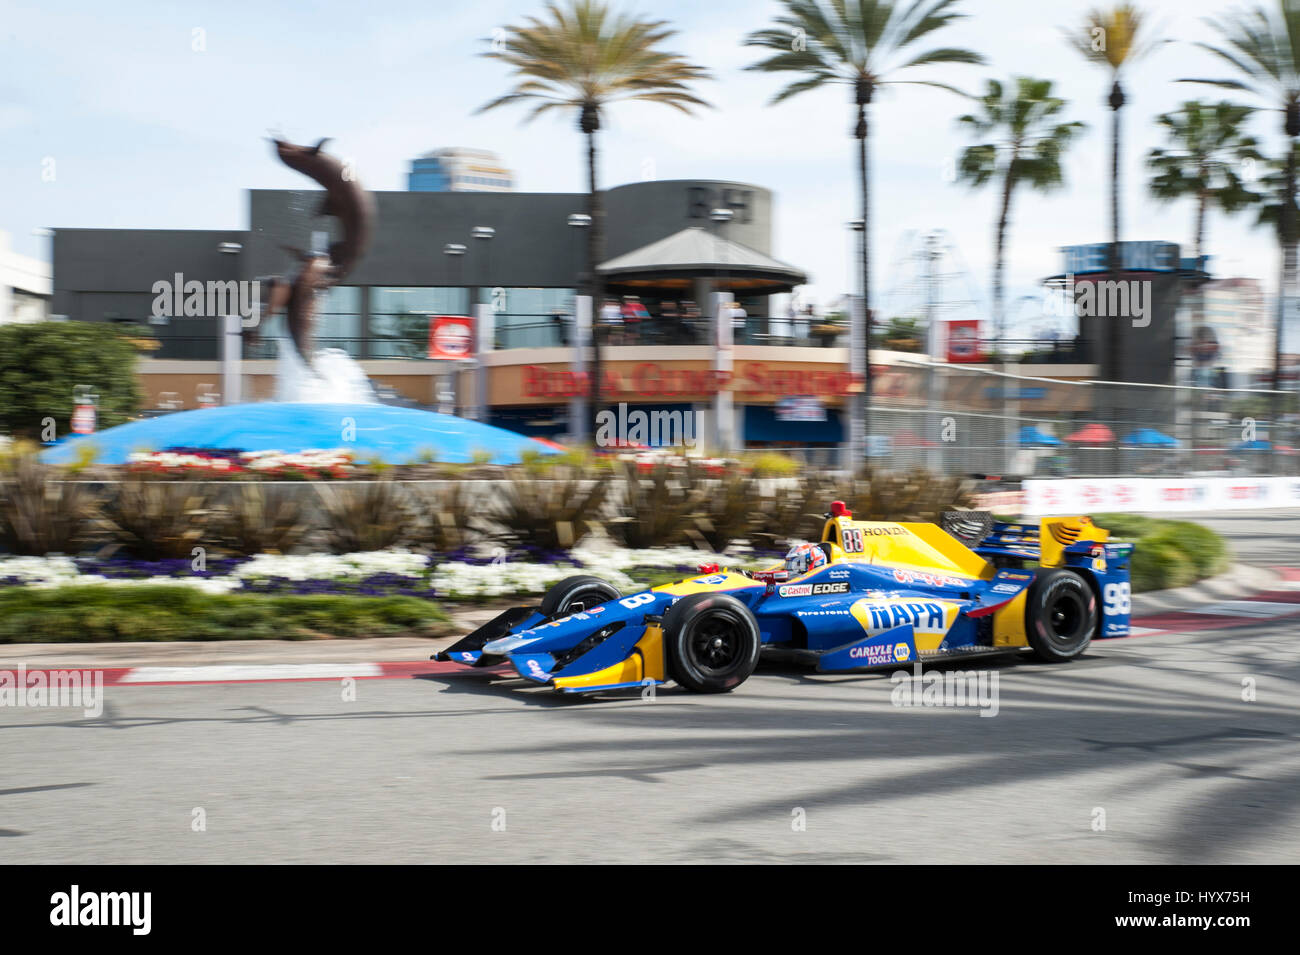
[[[692,594],[663,615],[664,655],[677,683],[727,693],[758,665],[762,637],[749,608],[728,594]]]

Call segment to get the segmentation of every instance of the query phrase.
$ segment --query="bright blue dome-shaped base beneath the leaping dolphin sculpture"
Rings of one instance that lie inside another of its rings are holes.
[[[493,464],[516,464],[525,451],[559,453],[554,447],[478,421],[389,404],[296,404],[261,401],[200,408],[131,421],[99,434],[64,440],[43,452],[53,464],[74,461],[95,448],[99,464],[126,464],[135,451],[224,448],[285,451],[346,448],[358,460],[415,464],[422,455],[469,464],[488,455]]]

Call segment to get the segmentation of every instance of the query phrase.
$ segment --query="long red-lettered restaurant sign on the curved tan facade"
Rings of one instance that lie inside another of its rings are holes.
[[[590,394],[588,376],[582,372],[545,365],[523,365],[520,370],[525,398],[576,398]],[[850,372],[770,369],[760,361],[745,363],[734,374],[711,368],[666,368],[645,361],[632,369],[630,374],[624,376],[607,368],[602,377],[602,394],[638,398],[714,395],[723,390],[742,395],[800,394],[836,398],[852,394],[861,386],[861,378]]]

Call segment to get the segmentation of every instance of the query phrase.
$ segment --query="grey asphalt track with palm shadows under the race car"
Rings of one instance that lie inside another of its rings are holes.
[[[1300,564],[1300,518],[1210,522],[1247,560]],[[992,719],[892,706],[887,674],[771,667],[724,696],[595,703],[465,670],[356,681],[355,700],[337,680],[116,686],[98,720],[0,708],[0,848],[12,863],[1300,861],[1300,616],[1269,612],[1095,643],[1063,667],[982,667],[998,677]]]

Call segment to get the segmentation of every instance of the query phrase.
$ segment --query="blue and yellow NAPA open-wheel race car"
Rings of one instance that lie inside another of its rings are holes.
[[[745,682],[760,654],[822,672],[1022,651],[1065,661],[1093,638],[1128,633],[1131,554],[1087,517],[855,521],[835,502],[822,541],[768,570],[708,565],[627,596],[598,577],[569,577],[436,659],[511,664],[562,693],[670,680],[722,693]]]

